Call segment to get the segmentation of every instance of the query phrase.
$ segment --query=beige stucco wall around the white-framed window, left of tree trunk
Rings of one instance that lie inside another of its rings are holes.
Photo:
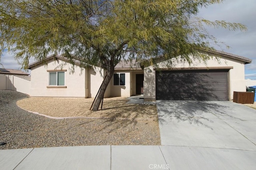
[[[65,86],[67,88],[47,88],[49,85],[49,72],[47,70],[59,70],[57,66],[65,64],[64,61],[49,61],[47,66],[38,64],[31,70],[31,90],[30,96],[47,96],[47,97],[95,97],[98,88],[103,80],[102,76],[96,69],[83,69],[75,66],[74,74],[70,72],[71,64],[66,63],[62,69],[65,72]],[[88,84],[86,86],[86,80]]]

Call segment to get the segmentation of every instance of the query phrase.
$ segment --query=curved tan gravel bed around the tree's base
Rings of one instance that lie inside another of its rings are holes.
[[[90,111],[93,98],[26,98],[17,105],[53,117],[106,117],[157,120],[155,105],[126,104],[124,97],[105,98],[102,110]]]

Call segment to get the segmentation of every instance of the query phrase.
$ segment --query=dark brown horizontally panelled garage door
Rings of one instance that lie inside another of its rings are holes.
[[[228,100],[228,70],[156,71],[156,100]]]

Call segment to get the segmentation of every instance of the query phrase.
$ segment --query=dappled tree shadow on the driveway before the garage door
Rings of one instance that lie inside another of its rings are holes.
[[[176,119],[178,122],[188,121],[190,124],[204,125],[212,129],[212,127],[205,125],[200,119],[207,120],[211,123],[214,122],[212,119],[218,119],[219,116],[229,117],[230,119],[240,119],[230,114],[234,110],[232,102],[158,100],[156,105],[158,121],[161,124]]]

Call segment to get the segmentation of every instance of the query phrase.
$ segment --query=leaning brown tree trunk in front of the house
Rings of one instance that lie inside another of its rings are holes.
[[[100,87],[100,92],[92,106],[92,111],[98,111],[100,107],[100,102],[104,98],[104,93],[106,91],[106,88],[108,87],[108,84],[114,74],[114,68],[107,71],[106,78],[102,82],[102,86]]]

